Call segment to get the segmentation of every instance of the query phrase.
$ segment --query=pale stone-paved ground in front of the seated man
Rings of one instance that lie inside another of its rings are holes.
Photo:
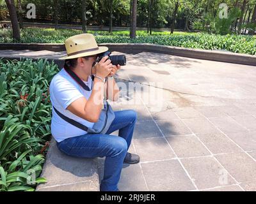
[[[147,52],[127,63],[118,82],[143,92],[124,88],[113,107],[138,112],[141,163],[124,164],[121,191],[256,191],[256,67]]]

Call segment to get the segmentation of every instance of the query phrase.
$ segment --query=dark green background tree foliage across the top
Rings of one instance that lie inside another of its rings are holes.
[[[54,23],[58,18],[59,24],[81,24],[83,2],[86,5],[87,25],[129,27],[132,22],[132,0],[15,0],[15,4],[19,1],[24,21],[27,22]],[[56,1],[58,1],[57,5]],[[26,18],[26,5],[31,2],[36,5],[36,19]],[[112,7],[111,2],[113,2]],[[138,0],[137,2],[136,26],[148,27],[148,32],[152,28],[171,28],[219,34],[249,31],[253,34],[256,27],[256,0]],[[223,3],[227,4],[227,18],[220,18],[220,12],[225,11],[220,8],[220,4]],[[0,20],[8,19],[7,12],[4,0],[0,0]]]

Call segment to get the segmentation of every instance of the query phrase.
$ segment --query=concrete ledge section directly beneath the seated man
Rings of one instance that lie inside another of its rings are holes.
[[[66,156],[52,138],[41,174],[47,183],[38,185],[36,191],[99,191],[98,170],[97,158]]]

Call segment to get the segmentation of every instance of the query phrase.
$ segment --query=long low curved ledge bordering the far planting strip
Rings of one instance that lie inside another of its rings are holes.
[[[218,50],[200,50],[193,48],[171,47],[154,44],[131,44],[131,43],[102,43],[99,46],[107,46],[111,51],[127,54],[138,54],[140,52],[156,52],[161,54],[177,55],[195,59],[210,61],[229,62],[256,66],[256,55],[236,54]],[[52,52],[65,51],[64,44],[20,44],[0,43],[0,50],[49,50]]]

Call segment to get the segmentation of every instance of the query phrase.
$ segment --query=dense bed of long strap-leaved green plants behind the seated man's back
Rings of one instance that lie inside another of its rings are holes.
[[[0,191],[34,191],[51,140],[49,83],[58,72],[40,59],[0,59]]]

